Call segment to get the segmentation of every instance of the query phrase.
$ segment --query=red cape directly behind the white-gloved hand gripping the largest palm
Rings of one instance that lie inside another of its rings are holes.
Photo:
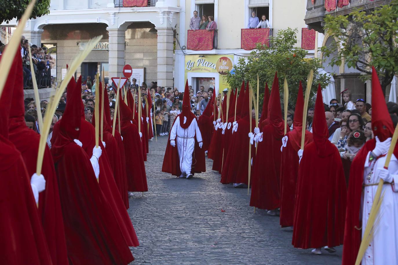
[[[27,128],[23,117],[11,118],[9,130],[9,139],[21,152],[30,179],[36,173],[40,135]],[[41,174],[43,174],[46,180],[46,189],[39,193],[39,208],[37,210],[50,250],[51,259],[53,260],[53,264],[68,264],[57,176],[55,175],[53,158],[47,145],[45,147]]]

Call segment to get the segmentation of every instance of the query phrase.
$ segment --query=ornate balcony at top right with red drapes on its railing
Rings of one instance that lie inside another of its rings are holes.
[[[339,0],[341,1],[341,0]],[[391,0],[349,0],[347,5],[339,7],[339,1],[335,0],[307,0],[307,11],[304,17],[305,23],[309,29],[315,29],[321,33],[324,33],[324,18],[326,15],[348,15],[353,10],[361,9],[373,9],[383,4],[388,4]],[[328,7],[328,11],[325,8]]]

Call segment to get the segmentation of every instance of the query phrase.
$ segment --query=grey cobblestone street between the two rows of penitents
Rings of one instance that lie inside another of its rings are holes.
[[[291,229],[280,228],[279,217],[254,213],[247,189],[220,184],[210,159],[207,172],[191,180],[161,172],[167,139],[149,143],[149,191],[130,198],[140,242],[132,264],[341,264],[342,247],[322,255],[293,248]]]

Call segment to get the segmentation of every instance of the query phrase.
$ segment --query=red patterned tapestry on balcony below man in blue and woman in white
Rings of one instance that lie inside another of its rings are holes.
[[[253,50],[257,43],[269,46],[269,29],[242,29],[240,33],[240,48]]]

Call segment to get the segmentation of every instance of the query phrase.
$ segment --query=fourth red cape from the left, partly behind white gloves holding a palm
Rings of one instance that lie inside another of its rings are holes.
[[[92,157],[93,148],[95,147],[95,128],[82,117],[80,125],[79,141],[82,142],[82,148],[86,151],[88,157]],[[115,178],[105,148],[102,143],[99,142],[99,146],[102,149],[102,155],[98,160],[100,164],[100,175],[98,177],[101,191],[105,195],[113,213],[115,214],[117,223],[125,237],[128,246],[137,247],[139,246],[137,235],[131,224],[130,217],[126,211],[126,207],[123,203],[119,190],[117,189]]]

